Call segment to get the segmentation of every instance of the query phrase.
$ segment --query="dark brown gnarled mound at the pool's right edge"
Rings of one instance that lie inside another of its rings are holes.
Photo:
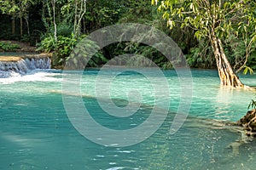
[[[256,109],[247,111],[247,114],[241,117],[237,125],[244,127],[248,136],[256,137]]]

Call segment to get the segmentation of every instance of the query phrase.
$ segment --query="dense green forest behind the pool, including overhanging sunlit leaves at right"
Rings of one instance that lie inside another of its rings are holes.
[[[40,52],[52,52],[53,65],[61,68],[90,32],[117,23],[140,23],[172,37],[191,67],[221,70],[227,66],[216,64],[223,57],[218,58],[216,51],[223,51],[231,70],[247,73],[256,69],[255,8],[247,0],[0,0],[0,39],[28,42]],[[221,42],[215,44],[220,49],[214,48],[214,38]],[[160,67],[172,68],[156,49],[136,42],[102,48],[89,66],[123,53],[143,54]]]

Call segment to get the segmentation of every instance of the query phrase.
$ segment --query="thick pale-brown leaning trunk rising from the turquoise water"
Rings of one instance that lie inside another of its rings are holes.
[[[234,88],[243,88],[244,85],[236,76],[230,62],[224,54],[224,48],[220,39],[212,35],[211,38],[212,48],[218,67],[218,76],[220,78],[220,84],[222,86],[230,86]]]

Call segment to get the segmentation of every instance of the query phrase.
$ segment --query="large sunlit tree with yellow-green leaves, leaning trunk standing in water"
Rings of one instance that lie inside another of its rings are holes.
[[[159,0],[152,0],[158,5]],[[164,0],[158,7],[172,28],[177,23],[189,26],[195,37],[207,38],[213,49],[221,85],[244,87],[236,77],[224,53],[223,39],[230,33],[237,37],[247,35],[246,41],[255,42],[256,3],[252,0]],[[250,32],[248,33],[248,29]],[[246,32],[246,34],[245,34]],[[248,48],[251,48],[248,47]]]

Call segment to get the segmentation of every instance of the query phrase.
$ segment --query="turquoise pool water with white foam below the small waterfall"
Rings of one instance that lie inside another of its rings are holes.
[[[106,79],[114,71],[106,71]],[[113,129],[141,124],[150,107],[143,107],[127,120],[102,115],[94,98],[97,73],[84,71],[81,83],[84,105],[91,116]],[[150,138],[127,147],[95,144],[76,131],[63,106],[60,71],[33,71],[24,77],[0,79],[0,169],[254,169],[255,141],[242,144],[235,155],[228,146],[240,134],[205,123],[236,122],[247,112],[253,92],[219,88],[217,71],[192,70],[189,117],[177,133],[170,134],[180,90],[175,71],[164,73],[171,92],[169,114]],[[256,85],[255,75],[241,76],[241,81]],[[122,105],[126,92],[137,89],[143,105],[154,105],[151,88],[147,78],[126,72],[111,83],[111,96]]]

